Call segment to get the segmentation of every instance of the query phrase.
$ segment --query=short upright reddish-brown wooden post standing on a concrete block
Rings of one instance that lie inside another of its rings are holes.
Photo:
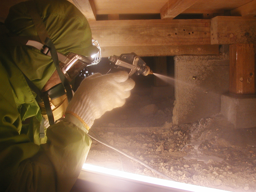
[[[255,44],[229,46],[229,92],[255,94]]]

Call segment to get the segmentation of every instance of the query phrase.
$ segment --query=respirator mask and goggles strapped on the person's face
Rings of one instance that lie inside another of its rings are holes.
[[[50,49],[39,43],[37,41],[29,40],[26,43],[27,46],[32,46],[39,49],[43,54],[49,55],[52,57],[50,53]],[[61,73],[64,75],[65,80],[67,80],[67,86],[72,87],[72,93],[69,95],[72,98],[73,92],[77,89],[78,85],[74,85],[76,78],[84,79],[87,76],[93,74],[88,69],[91,65],[96,65],[101,60],[101,48],[99,43],[96,40],[92,40],[92,46],[97,47],[98,52],[92,53],[91,56],[85,57],[83,55],[79,55],[73,52],[68,52],[65,55],[57,52],[58,60],[59,60],[59,69]],[[42,116],[49,121],[49,124],[54,124],[58,119],[64,116],[66,108],[68,107],[68,103],[71,98],[68,98],[68,89],[63,86],[62,83],[53,86],[51,89],[42,93],[44,99],[37,100],[38,105],[41,109]],[[47,100],[49,102],[47,102]]]

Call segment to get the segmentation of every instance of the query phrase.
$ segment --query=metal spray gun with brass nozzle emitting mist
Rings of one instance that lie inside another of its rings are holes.
[[[129,69],[129,76],[136,73],[136,75],[149,75],[153,74],[153,71],[150,70],[149,66],[138,57],[135,53],[121,54],[119,57],[116,55],[110,56],[108,58],[114,68],[126,68]]]

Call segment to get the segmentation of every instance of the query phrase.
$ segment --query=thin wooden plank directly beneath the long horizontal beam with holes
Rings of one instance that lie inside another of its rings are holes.
[[[219,55],[218,45],[178,45],[178,46],[121,46],[102,47],[102,57],[121,55],[122,53],[136,53],[140,57],[146,56],[175,56],[175,55]]]

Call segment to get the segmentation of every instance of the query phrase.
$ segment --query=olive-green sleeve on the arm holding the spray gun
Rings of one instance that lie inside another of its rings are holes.
[[[47,129],[47,143],[21,162],[7,191],[70,191],[89,152],[91,139],[80,128],[62,121]]]

